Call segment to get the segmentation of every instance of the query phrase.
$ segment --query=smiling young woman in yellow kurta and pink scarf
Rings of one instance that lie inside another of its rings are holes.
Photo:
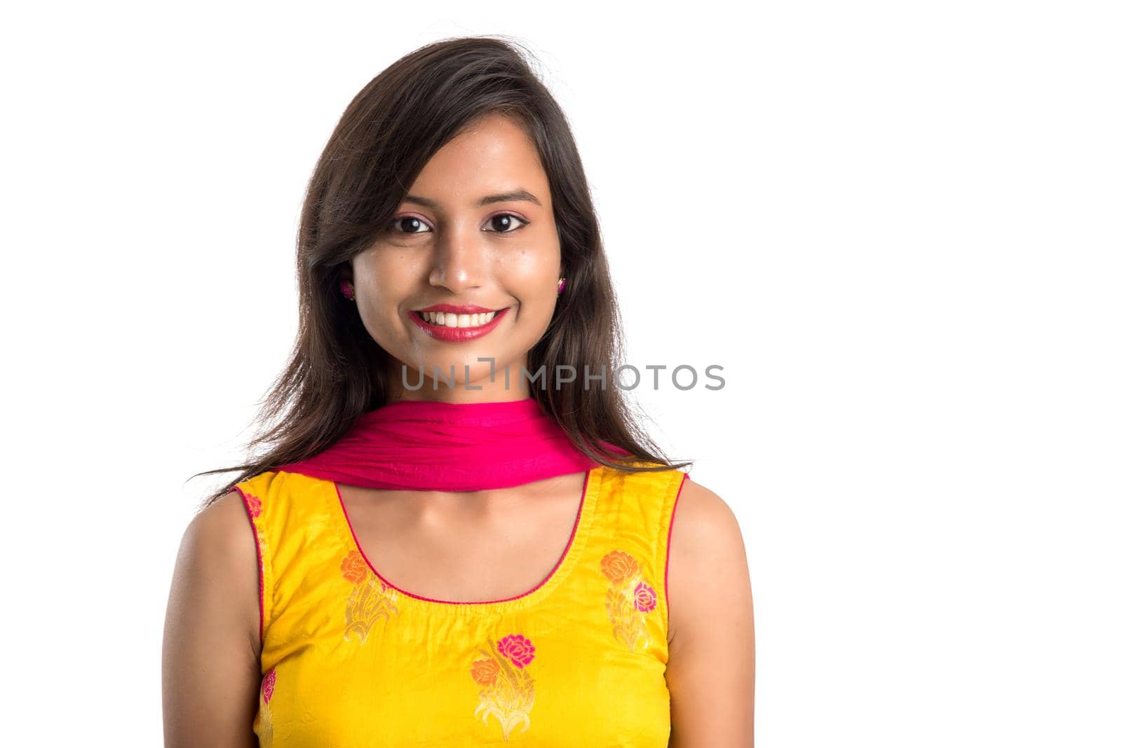
[[[611,381],[596,214],[523,50],[371,81],[297,259],[283,417],[181,545],[165,745],[751,746],[742,534]]]

